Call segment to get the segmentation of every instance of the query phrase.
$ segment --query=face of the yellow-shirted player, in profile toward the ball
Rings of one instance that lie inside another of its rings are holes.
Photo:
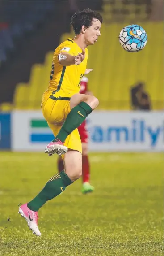
[[[93,19],[92,25],[85,29],[84,38],[87,45],[91,45],[97,42],[100,34],[101,23],[97,19]]]

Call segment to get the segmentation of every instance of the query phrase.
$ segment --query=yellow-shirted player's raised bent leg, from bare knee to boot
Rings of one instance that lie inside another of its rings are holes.
[[[70,100],[70,112],[55,139],[47,145],[45,152],[49,155],[56,153],[56,148],[60,148],[60,145],[62,147],[67,136],[82,124],[85,118],[97,108],[98,103],[97,98],[93,95],[73,95]]]

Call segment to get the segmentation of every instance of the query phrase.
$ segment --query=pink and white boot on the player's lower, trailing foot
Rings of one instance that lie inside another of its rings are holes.
[[[27,203],[26,203],[26,204],[22,204],[19,207],[18,213],[20,213],[21,216],[25,218],[25,220],[28,223],[29,229],[33,231],[33,234],[36,234],[37,236],[41,236],[41,233],[38,229],[38,212],[34,212],[30,210],[27,207]]]

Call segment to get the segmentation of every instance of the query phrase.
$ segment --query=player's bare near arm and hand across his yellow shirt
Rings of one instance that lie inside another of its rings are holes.
[[[63,66],[71,66],[71,65],[80,65],[80,63],[85,58],[85,50],[82,50],[82,53],[78,53],[78,55],[73,56],[68,52],[61,52],[58,56],[59,63]]]

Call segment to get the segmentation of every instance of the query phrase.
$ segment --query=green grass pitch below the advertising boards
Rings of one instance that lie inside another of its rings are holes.
[[[0,152],[0,255],[163,255],[162,154],[90,154],[95,191],[82,195],[78,180],[49,201],[39,211],[36,237],[18,204],[55,174],[56,159]]]

